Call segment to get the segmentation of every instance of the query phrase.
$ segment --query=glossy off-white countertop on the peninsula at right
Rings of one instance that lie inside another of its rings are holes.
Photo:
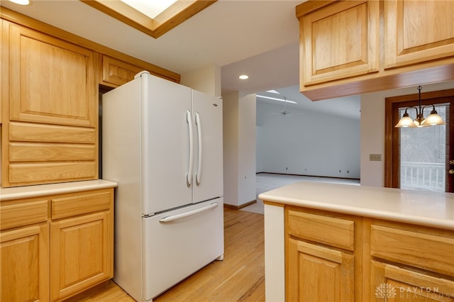
[[[454,230],[454,193],[300,181],[258,196],[293,206]]]

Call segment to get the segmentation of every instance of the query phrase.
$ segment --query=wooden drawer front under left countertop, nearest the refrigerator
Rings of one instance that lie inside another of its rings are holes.
[[[109,210],[112,200],[113,189],[92,191],[89,194],[74,194],[73,196],[52,198],[52,220]]]

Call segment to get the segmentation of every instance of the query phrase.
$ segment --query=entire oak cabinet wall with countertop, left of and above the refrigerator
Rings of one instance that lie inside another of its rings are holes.
[[[99,85],[175,72],[0,7],[0,301],[62,301],[114,274]]]

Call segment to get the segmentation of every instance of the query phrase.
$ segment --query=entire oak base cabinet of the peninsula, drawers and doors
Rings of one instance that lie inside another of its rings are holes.
[[[284,218],[286,301],[454,301],[452,230],[287,205]]]

